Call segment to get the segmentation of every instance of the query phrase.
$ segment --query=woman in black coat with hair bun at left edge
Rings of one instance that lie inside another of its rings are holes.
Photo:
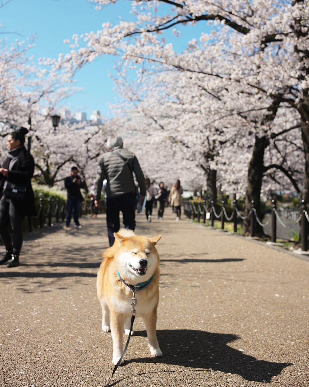
[[[21,127],[8,135],[8,157],[0,168],[0,236],[6,249],[0,265],[7,262],[8,267],[19,265],[24,218],[36,214],[31,187],[34,159],[24,146],[27,133],[28,130]],[[8,232],[9,223],[12,225],[13,243]]]

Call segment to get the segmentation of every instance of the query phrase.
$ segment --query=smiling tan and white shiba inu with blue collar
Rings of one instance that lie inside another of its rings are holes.
[[[132,289],[136,290],[136,317],[144,320],[150,353],[162,356],[156,337],[160,257],[155,248],[161,235],[146,238],[120,229],[114,236],[114,245],[104,252],[97,275],[102,330],[112,333],[113,364],[121,358],[123,332],[129,334]]]

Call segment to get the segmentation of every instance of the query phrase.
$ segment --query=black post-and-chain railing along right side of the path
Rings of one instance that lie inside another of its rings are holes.
[[[301,219],[301,242],[302,242],[302,251],[307,251],[308,246],[307,246],[307,233],[308,233],[308,225],[309,223],[309,214],[306,211],[306,203],[304,200],[302,200],[301,204],[301,211],[299,213],[298,218],[292,225],[287,225],[285,224],[281,217],[278,214],[277,211],[277,203],[273,199],[272,200],[272,210],[271,214],[268,217],[267,221],[265,223],[262,223],[261,220],[258,217],[257,210],[254,206],[254,201],[251,201],[251,209],[246,215],[242,215],[236,205],[236,200],[233,201],[233,212],[230,216],[228,216],[226,212],[226,208],[224,206],[224,201],[222,200],[221,202],[222,207],[221,207],[221,212],[217,214],[216,208],[214,206],[214,202],[211,202],[211,205],[209,208],[207,208],[205,202],[199,202],[199,203],[194,203],[190,201],[184,201],[183,202],[183,208],[184,208],[184,213],[185,215],[194,220],[195,218],[197,221],[200,223],[200,219],[203,219],[203,223],[206,223],[206,219],[209,219],[211,221],[211,226],[214,227],[214,221],[215,219],[220,219],[221,220],[221,229],[224,229],[224,222],[225,221],[233,221],[233,231],[234,233],[237,232],[237,224],[239,219],[244,220],[248,217],[250,217],[250,236],[254,237],[255,236],[255,226],[256,224],[259,224],[261,227],[266,227],[268,224],[271,223],[271,241],[273,243],[276,242],[277,240],[277,221],[280,223],[280,225],[284,228],[294,228],[296,224],[298,224]],[[304,215],[304,216],[303,216]]]

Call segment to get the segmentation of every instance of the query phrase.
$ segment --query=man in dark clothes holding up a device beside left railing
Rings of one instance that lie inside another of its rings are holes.
[[[65,188],[68,192],[68,203],[66,206],[66,228],[70,226],[72,210],[74,211],[74,223],[76,228],[81,228],[79,222],[80,205],[84,200],[83,195],[80,192],[80,188],[83,186],[80,176],[78,175],[78,168],[73,166],[71,168],[71,176],[65,178]]]

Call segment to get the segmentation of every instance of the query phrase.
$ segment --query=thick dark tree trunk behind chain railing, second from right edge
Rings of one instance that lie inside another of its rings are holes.
[[[247,216],[251,211],[252,203],[254,201],[254,207],[256,209],[256,214],[260,221],[263,217],[261,214],[261,187],[262,187],[262,178],[263,178],[263,159],[265,148],[268,145],[268,139],[266,136],[255,137],[255,144],[253,147],[253,154],[249,163],[248,168],[248,181],[246,189],[246,199],[244,204],[244,216]],[[243,235],[250,235],[250,217],[247,217],[243,221]],[[263,236],[263,228],[255,221],[255,235]]]

